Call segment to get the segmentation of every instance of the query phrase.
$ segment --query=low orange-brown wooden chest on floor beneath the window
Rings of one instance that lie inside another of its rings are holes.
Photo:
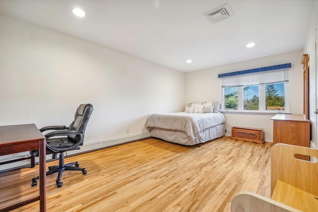
[[[232,127],[231,139],[263,144],[264,129],[234,126]]]

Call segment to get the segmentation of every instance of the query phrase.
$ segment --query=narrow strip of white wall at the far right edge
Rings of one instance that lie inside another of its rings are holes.
[[[314,10],[312,13],[307,39],[304,46],[304,54],[309,54],[309,119],[312,123],[312,147],[318,147],[317,141],[317,115],[314,111],[317,109],[317,96],[316,96],[316,77],[317,77],[317,53],[315,50],[316,36],[318,32],[318,1],[315,2]]]

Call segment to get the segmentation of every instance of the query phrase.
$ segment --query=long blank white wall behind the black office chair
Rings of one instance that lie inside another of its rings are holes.
[[[79,104],[91,103],[85,144],[149,136],[150,114],[184,109],[184,78],[183,72],[0,15],[0,126],[69,125]]]

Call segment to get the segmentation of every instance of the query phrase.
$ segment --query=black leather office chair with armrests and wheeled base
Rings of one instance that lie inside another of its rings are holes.
[[[58,188],[63,186],[61,182],[62,173],[65,170],[79,170],[83,174],[87,171],[85,168],[79,168],[78,162],[73,162],[69,164],[64,164],[64,152],[74,149],[79,149],[80,145],[83,144],[85,128],[88,123],[90,114],[93,112],[93,106],[91,104],[81,104],[75,113],[75,119],[69,127],[66,126],[49,126],[41,128],[40,131],[44,132],[50,130],[50,132],[45,135],[46,138],[46,154],[52,154],[52,159],[56,159],[57,153],[60,153],[59,165],[50,166],[49,171],[46,175],[58,173],[56,180],[56,185]],[[58,138],[52,138],[58,137]],[[39,156],[39,150],[33,150],[30,152],[31,156]],[[75,165],[75,167],[73,166]],[[37,185],[38,177],[32,179],[32,186]]]

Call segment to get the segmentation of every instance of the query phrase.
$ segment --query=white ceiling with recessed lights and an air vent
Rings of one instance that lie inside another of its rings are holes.
[[[203,15],[224,3],[233,17],[213,24]],[[0,0],[0,13],[187,72],[302,49],[314,4],[315,0]],[[86,16],[75,16],[75,7]],[[249,42],[255,46],[246,48]]]

